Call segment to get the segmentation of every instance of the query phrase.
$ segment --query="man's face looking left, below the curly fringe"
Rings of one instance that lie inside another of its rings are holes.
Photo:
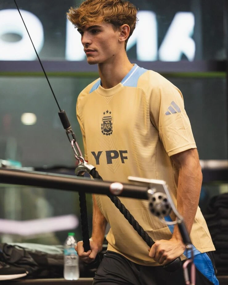
[[[89,64],[111,62],[120,51],[120,31],[114,31],[112,24],[96,22],[78,28]]]

